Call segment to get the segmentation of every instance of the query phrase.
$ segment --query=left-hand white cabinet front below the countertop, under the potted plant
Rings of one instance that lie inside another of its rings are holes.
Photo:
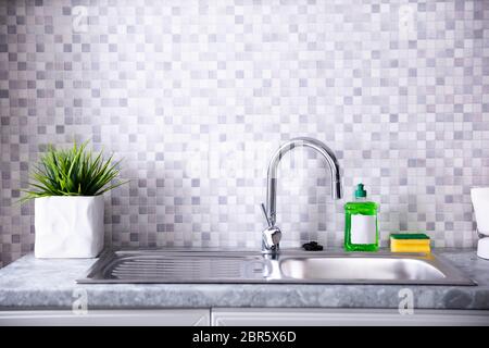
[[[0,311],[0,326],[209,326],[209,309]]]

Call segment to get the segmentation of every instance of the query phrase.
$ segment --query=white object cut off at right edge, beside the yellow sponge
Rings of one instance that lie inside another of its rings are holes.
[[[484,235],[477,244],[477,256],[489,259],[489,187],[475,187],[471,189],[472,204],[477,223],[477,231]]]

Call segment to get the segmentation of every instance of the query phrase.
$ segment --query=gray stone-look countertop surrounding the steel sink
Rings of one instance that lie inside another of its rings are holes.
[[[88,308],[317,307],[398,308],[399,290],[415,308],[489,309],[489,261],[474,250],[437,250],[478,286],[311,284],[76,284],[95,260],[27,254],[0,270],[0,308],[71,309],[86,290]]]

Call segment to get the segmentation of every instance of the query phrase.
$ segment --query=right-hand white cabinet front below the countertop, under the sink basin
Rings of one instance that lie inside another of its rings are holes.
[[[215,308],[213,326],[301,325],[489,325],[489,311],[415,310],[401,315],[386,309]]]

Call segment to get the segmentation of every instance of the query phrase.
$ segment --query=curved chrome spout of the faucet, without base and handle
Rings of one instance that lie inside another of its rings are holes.
[[[340,199],[342,197],[340,167],[333,150],[329,149],[324,142],[317,139],[308,137],[293,138],[284,144],[283,146],[280,146],[278,150],[275,151],[268,164],[266,213],[268,215],[272,226],[275,225],[276,221],[277,167],[278,164],[280,163],[281,158],[287,152],[297,147],[308,147],[314,149],[326,159],[331,174],[331,197],[333,199]]]

